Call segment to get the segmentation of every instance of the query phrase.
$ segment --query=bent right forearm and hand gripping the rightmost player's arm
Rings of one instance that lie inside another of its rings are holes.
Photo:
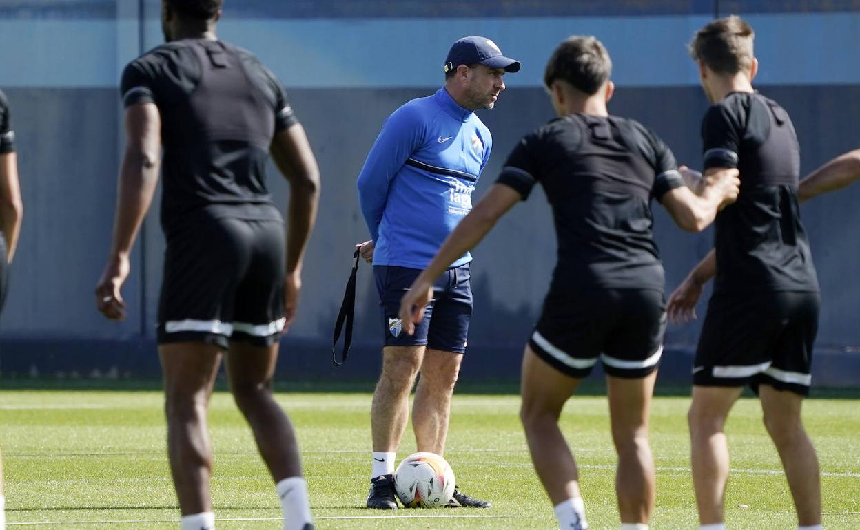
[[[701,194],[697,195],[687,186],[679,186],[664,193],[660,203],[680,228],[700,232],[714,222],[719,210],[738,198],[738,175],[734,168],[710,168],[704,174]]]

